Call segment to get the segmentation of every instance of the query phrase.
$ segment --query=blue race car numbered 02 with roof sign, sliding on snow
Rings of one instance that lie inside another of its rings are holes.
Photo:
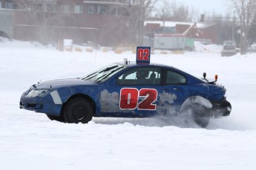
[[[110,64],[83,78],[34,84],[22,94],[20,108],[50,120],[88,123],[93,117],[145,118],[191,112],[206,127],[210,118],[228,116],[226,89],[161,64],[150,64],[150,48],[137,47],[137,62]]]

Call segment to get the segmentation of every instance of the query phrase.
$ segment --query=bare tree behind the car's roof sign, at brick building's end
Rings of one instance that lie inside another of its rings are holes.
[[[122,1],[111,5],[105,14],[116,17],[116,21],[102,24],[102,29],[117,37],[116,45],[121,42],[142,45],[145,18],[154,10],[157,1],[159,0]],[[118,37],[122,40],[118,41]]]

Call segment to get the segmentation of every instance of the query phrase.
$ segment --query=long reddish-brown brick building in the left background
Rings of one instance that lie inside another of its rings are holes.
[[[131,43],[134,10],[137,0],[0,0],[0,34],[45,43]]]

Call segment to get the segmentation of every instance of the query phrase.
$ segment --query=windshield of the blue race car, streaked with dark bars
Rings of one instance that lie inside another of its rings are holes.
[[[94,82],[102,82],[111,78],[112,75],[116,74],[116,72],[121,71],[125,67],[121,64],[111,64],[101,69],[98,69],[94,72],[89,73],[82,77],[82,80],[94,81]]]

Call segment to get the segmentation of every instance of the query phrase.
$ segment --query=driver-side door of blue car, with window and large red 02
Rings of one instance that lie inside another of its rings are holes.
[[[102,89],[102,116],[148,117],[156,114],[161,89],[161,67],[140,66],[125,69]]]

